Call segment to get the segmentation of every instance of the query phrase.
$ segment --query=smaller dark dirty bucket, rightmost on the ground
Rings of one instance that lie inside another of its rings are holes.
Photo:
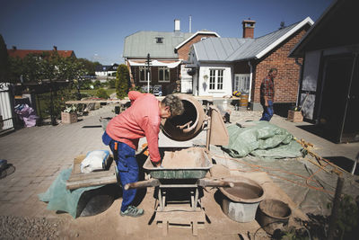
[[[258,223],[270,235],[276,229],[283,229],[288,224],[292,210],[281,200],[263,200],[259,204]]]

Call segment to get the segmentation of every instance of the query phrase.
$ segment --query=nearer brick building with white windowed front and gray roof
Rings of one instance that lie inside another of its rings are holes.
[[[223,97],[240,91],[249,95],[251,109],[259,110],[261,81],[270,68],[276,67],[275,104],[295,104],[302,58],[288,56],[313,22],[308,17],[253,39],[255,23],[242,22],[241,39],[210,39],[193,45],[188,66],[197,69],[193,76],[195,95]]]

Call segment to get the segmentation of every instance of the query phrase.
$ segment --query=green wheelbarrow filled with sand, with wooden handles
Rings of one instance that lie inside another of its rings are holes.
[[[153,220],[157,226],[162,225],[163,236],[168,234],[169,227],[190,227],[197,236],[197,229],[204,228],[206,222],[200,201],[202,188],[233,187],[234,183],[206,177],[213,164],[204,147],[160,150],[164,153],[161,167],[154,167],[150,157],[144,162],[150,179],[128,183],[124,188],[155,187]]]

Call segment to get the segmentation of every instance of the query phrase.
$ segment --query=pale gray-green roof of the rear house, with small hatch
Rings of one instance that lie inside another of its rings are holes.
[[[178,58],[174,48],[194,33],[169,31],[137,31],[125,38],[124,58]],[[163,38],[156,43],[156,38]]]

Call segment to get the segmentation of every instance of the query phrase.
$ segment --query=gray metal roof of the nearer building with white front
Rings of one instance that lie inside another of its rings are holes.
[[[276,43],[302,22],[294,23],[283,29],[273,31],[265,36],[253,39],[211,38],[195,43],[198,61],[232,62],[258,58],[268,46]],[[305,23],[305,22],[304,22]]]

